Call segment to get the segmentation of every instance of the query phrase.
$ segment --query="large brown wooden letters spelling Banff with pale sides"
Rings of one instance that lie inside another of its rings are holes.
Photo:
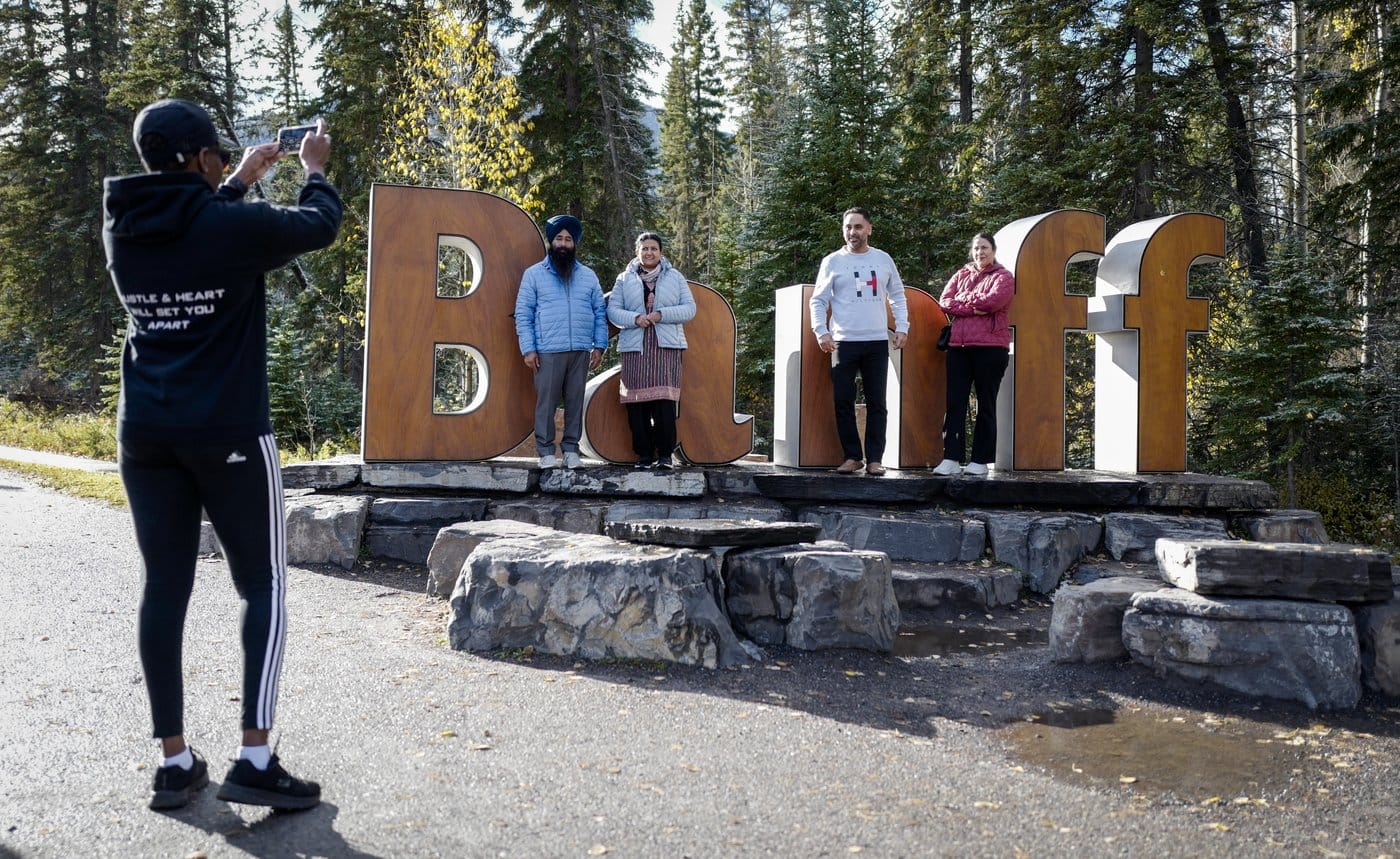
[[[1225,256],[1225,222],[1187,213],[1141,221],[1105,243],[1103,215],[1058,210],[997,234],[997,259],[1016,277],[1011,364],[997,402],[997,467],[1064,469],[1065,332],[1095,334],[1095,467],[1186,470],[1187,337],[1204,333],[1208,302],[1187,295],[1190,267]],[[470,260],[470,288],[438,295],[441,248]],[[515,339],[521,274],[545,255],[535,221],[482,192],[375,185],[370,197],[365,323],[365,462],[487,460],[532,434],[535,386]],[[1065,291],[1071,263],[1098,260],[1095,295]],[[601,280],[606,283],[609,273]],[[682,367],[676,435],[696,464],[724,464],[753,446],[752,417],[734,413],[734,311],[692,283],[696,318]],[[830,355],[811,333],[811,285],[777,290],[773,460],[832,467],[841,462],[832,411]],[[942,459],[944,354],[937,297],[906,288],[910,339],[890,351],[885,464],[923,469]],[[458,348],[476,362],[475,397],[434,411],[437,354]],[[634,460],[617,402],[617,367],[588,382],[584,452]]]

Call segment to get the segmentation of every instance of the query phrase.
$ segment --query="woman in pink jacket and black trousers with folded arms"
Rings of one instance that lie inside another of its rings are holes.
[[[967,395],[977,390],[977,424],[972,462],[963,474],[981,476],[997,457],[997,389],[1011,355],[1007,308],[1016,281],[997,262],[997,241],[986,232],[972,239],[970,263],[944,287],[938,304],[952,320],[948,341],[948,410],[944,417],[944,460],[934,474],[956,474],[967,448]]]

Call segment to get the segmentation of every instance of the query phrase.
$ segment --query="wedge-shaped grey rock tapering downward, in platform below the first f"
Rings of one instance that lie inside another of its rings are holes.
[[[1050,593],[1081,558],[1099,548],[1103,520],[1088,513],[974,512],[987,523],[998,561],[1026,574],[1026,586]]]

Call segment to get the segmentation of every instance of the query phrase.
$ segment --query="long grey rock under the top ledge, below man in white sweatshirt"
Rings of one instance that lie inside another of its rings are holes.
[[[815,506],[799,519],[820,525],[829,540],[882,551],[892,561],[967,562],[980,558],[987,546],[981,519],[955,513]]]

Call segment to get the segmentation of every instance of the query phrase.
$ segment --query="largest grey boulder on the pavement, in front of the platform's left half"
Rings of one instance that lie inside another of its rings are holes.
[[[535,648],[585,659],[704,667],[755,662],[720,607],[713,555],[554,533],[479,544],[452,592],[459,651]]]

